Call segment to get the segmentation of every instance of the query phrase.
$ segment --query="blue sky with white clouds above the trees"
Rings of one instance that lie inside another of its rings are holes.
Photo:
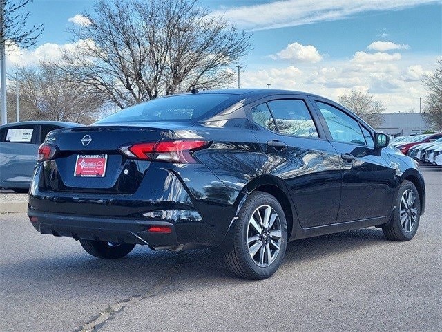
[[[57,57],[72,19],[90,0],[35,0],[29,23],[45,24],[21,64]],[[419,111],[421,78],[442,55],[442,2],[434,0],[214,1],[202,6],[253,31],[242,58],[243,87],[309,91],[336,100],[349,89],[373,93],[389,112]],[[74,20],[75,21],[75,20]],[[9,63],[17,62],[11,55]],[[235,68],[233,68],[235,69]]]

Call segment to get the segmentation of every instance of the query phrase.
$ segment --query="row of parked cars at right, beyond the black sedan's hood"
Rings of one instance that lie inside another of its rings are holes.
[[[442,133],[398,136],[390,145],[415,160],[442,166]]]

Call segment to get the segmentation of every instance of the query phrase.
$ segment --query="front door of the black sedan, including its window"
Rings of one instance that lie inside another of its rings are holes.
[[[343,168],[337,222],[383,221],[392,207],[395,169],[381,149],[374,149],[372,129],[337,104],[318,98],[312,102],[323,116],[327,135]]]

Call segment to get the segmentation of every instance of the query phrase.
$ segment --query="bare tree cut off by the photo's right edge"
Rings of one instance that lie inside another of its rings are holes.
[[[423,84],[427,88],[428,95],[423,108],[423,115],[438,131],[442,130],[442,59],[439,59],[438,67],[434,73],[425,75]]]

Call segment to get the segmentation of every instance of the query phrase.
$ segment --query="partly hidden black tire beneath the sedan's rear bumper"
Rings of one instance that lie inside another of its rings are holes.
[[[117,259],[126,256],[135,244],[111,243],[80,239],[80,244],[90,255],[102,259]]]

